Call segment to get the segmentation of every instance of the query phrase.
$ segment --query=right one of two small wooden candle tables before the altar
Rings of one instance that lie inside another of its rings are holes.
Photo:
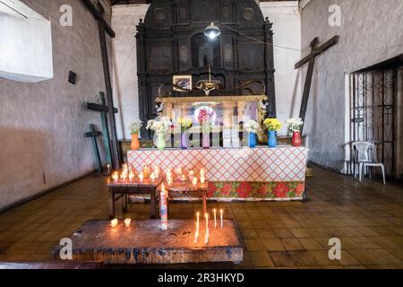
[[[157,189],[158,196],[161,191],[161,187],[162,186]],[[168,204],[169,199],[200,199],[202,201],[203,213],[207,212],[207,188],[209,187],[209,182],[207,180],[203,184],[201,184],[199,181],[195,187],[189,180],[175,181],[170,186],[167,184],[167,181],[164,180],[164,187],[168,193]]]

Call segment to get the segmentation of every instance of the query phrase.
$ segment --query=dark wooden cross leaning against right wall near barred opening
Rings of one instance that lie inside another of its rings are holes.
[[[308,72],[306,73],[306,79],[304,84],[304,92],[303,99],[301,101],[301,109],[299,110],[299,117],[303,119],[305,122],[306,109],[308,107],[309,93],[311,91],[312,78],[313,78],[313,68],[315,66],[315,58],[321,55],[328,48],[336,45],[339,42],[339,36],[335,36],[323,45],[318,47],[319,39],[316,37],[311,42],[311,54],[301,59],[298,63],[296,63],[296,69],[300,68],[302,65],[309,62]],[[304,128],[304,126],[302,126]],[[302,130],[301,130],[302,132]]]

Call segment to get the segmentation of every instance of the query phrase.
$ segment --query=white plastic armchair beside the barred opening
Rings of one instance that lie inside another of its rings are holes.
[[[352,143],[354,159],[358,163],[358,175],[361,183],[364,183],[364,170],[369,167],[378,167],[382,169],[383,185],[386,185],[385,166],[376,159],[376,145],[371,142]],[[370,170],[371,178],[371,170]]]

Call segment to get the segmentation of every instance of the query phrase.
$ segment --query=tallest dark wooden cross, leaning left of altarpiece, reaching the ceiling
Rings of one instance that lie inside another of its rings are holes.
[[[91,0],[81,0],[82,4],[84,4],[89,10],[90,13],[94,16],[95,20],[98,22],[98,30],[99,30],[99,43],[102,57],[102,65],[104,70],[104,79],[105,79],[105,87],[107,90],[107,116],[109,118],[110,124],[110,137],[112,142],[112,158],[114,169],[120,168],[120,157],[119,157],[119,142],[117,141],[117,133],[116,133],[116,118],[115,118],[115,108],[114,108],[114,98],[112,94],[112,82],[110,78],[110,69],[109,69],[109,57],[107,55],[107,35],[111,38],[115,38],[116,34],[112,28],[110,28],[109,24],[105,21],[103,13],[104,10],[101,4],[94,5]]]

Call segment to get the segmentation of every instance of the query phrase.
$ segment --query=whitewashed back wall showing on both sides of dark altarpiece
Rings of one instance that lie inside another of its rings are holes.
[[[273,22],[276,94],[278,117],[285,120],[297,116],[301,97],[301,81],[294,65],[301,53],[300,15],[297,1],[261,3],[265,17]],[[117,5],[112,11],[114,39],[114,96],[121,113],[116,117],[119,139],[129,139],[127,126],[139,117],[135,25],[144,19],[149,5]],[[286,133],[284,128],[283,133]]]

